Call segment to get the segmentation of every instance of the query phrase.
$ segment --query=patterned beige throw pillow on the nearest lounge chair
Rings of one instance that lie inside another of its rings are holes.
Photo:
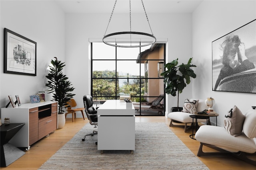
[[[234,137],[241,135],[244,119],[245,116],[240,109],[234,106],[230,111],[228,111],[228,114],[225,115],[224,127],[226,131]]]

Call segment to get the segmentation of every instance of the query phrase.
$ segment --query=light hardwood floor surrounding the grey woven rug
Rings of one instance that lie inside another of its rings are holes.
[[[164,122],[169,127],[170,119],[163,116],[136,116],[136,122]],[[76,118],[72,122],[72,118],[66,118],[65,127],[57,129],[55,133],[51,133],[49,137],[44,137],[31,146],[26,154],[10,164],[3,170],[37,170],[46,160],[48,160],[58,149],[60,149],[66,142],[86,124],[88,120],[83,118]],[[190,139],[189,135],[192,131],[184,133],[184,128],[169,127],[181,141],[196,155],[199,147],[199,142]],[[82,137],[81,137],[82,140]],[[172,143],[172,141],[170,141]],[[209,149],[210,150],[210,149]],[[238,160],[229,156],[211,156],[198,157],[210,170],[255,170],[256,166],[248,164],[244,161]],[[191,165],[193,168],[193,165]],[[86,168],[85,168],[86,169]]]

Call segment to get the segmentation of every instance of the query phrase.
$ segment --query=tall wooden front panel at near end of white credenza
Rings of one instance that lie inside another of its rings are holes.
[[[29,145],[38,141],[38,107],[29,109]]]

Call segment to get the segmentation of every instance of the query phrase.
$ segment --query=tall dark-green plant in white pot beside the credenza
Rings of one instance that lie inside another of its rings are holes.
[[[74,87],[62,72],[65,63],[58,61],[56,57],[54,58],[55,60],[52,60],[48,67],[49,73],[46,76],[48,83],[45,85],[49,87],[48,93],[53,94],[52,101],[58,101],[58,129],[61,129],[65,125],[64,108],[75,94],[70,93],[74,90]]]

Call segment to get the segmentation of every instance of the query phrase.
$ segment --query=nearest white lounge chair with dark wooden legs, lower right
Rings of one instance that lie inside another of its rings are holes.
[[[256,165],[256,160],[248,157],[256,155],[256,109],[250,109],[244,115],[242,134],[236,137],[230,135],[224,127],[202,125],[195,135],[200,142],[197,156],[231,155]],[[220,152],[203,152],[203,146]]]

